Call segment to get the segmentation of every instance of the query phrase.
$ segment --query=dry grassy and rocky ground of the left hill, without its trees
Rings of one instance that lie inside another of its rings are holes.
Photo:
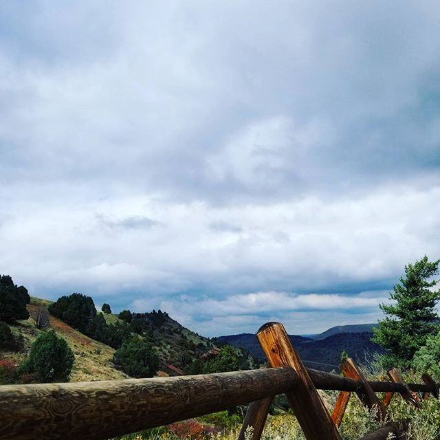
[[[64,338],[74,352],[74,366],[70,375],[72,382],[122,380],[129,377],[120,371],[122,366],[113,364],[115,349],[98,340],[89,338],[89,336],[67,325],[63,320],[50,314],[47,308],[51,304],[51,301],[48,300],[31,298],[26,308],[32,314],[39,307],[43,307],[47,312],[50,328],[58,336]],[[102,316],[108,325],[127,326],[126,322],[123,322],[114,314],[98,312],[98,315]],[[42,333],[42,330],[36,328],[31,318],[17,320],[10,325],[10,328],[19,341],[19,349],[17,351],[2,350],[0,358],[19,365],[27,357],[32,342]],[[144,338],[157,351],[159,356],[157,375],[159,376],[190,373],[195,362],[199,363],[198,368],[200,369],[200,365],[217,358],[220,351],[220,348],[214,342],[186,329],[186,327],[183,327],[179,322],[160,310],[133,314],[128,328],[131,329],[131,337]],[[242,360],[243,365],[248,365],[247,368],[254,365],[250,355],[243,349],[233,347],[232,350]],[[243,366],[243,368],[246,367]]]

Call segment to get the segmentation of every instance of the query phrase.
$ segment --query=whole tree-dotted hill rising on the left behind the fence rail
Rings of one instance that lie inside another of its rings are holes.
[[[9,276],[1,279],[14,293],[5,296],[6,300],[19,298],[23,304],[23,293],[27,294],[24,287],[20,292]],[[109,313],[108,306],[103,305],[106,312],[98,312],[94,300],[79,293],[61,296],[54,303],[33,298],[24,305],[26,314],[20,315],[28,318],[10,325],[0,322],[0,383],[52,380],[36,359],[46,356],[47,360],[53,353],[43,355],[47,350],[32,349],[37,340],[36,347],[41,344],[43,335],[52,334],[48,329],[66,340],[74,353],[71,380],[119,379],[127,377],[124,373],[132,377],[195,374],[254,366],[243,350],[219,349],[208,338],[182,327],[160,310],[145,314],[125,310],[115,316]],[[57,336],[54,335],[53,344],[58,341]],[[61,375],[54,373],[57,380],[67,380],[68,376],[67,369]]]

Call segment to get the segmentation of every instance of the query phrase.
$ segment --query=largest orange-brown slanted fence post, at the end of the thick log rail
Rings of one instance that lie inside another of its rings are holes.
[[[298,353],[292,347],[285,328],[268,322],[256,333],[272,367],[291,366],[300,379],[295,391],[285,393],[307,440],[341,440],[338,429],[325,408]]]

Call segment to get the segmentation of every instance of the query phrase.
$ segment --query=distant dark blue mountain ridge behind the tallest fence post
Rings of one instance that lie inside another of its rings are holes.
[[[381,347],[371,342],[371,336],[371,332],[361,331],[360,333],[336,333],[320,340],[296,335],[289,335],[289,339],[309,368],[338,371],[342,351],[346,351],[351,358],[360,363],[365,363],[373,353],[383,353]],[[261,360],[265,359],[259,342],[252,333],[220,336],[217,340],[245,349]]]

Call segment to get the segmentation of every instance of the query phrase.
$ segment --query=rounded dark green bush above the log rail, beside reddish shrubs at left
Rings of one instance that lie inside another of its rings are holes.
[[[35,373],[40,382],[67,382],[74,364],[74,353],[54,331],[42,333],[30,347],[20,373]]]

